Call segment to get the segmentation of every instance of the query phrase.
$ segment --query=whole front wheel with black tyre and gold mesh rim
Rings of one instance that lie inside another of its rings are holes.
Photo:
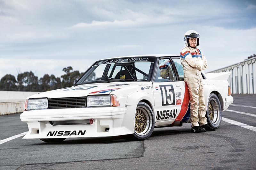
[[[155,116],[147,103],[139,102],[136,107],[134,133],[126,135],[126,140],[145,140],[152,134],[155,126]]]

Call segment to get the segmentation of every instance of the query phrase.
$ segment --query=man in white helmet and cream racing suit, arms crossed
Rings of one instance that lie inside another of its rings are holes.
[[[191,132],[214,131],[215,129],[208,125],[205,117],[204,87],[201,70],[207,68],[207,60],[201,51],[196,48],[199,45],[199,33],[195,30],[187,31],[184,35],[184,41],[186,46],[181,49],[180,61],[190,97]]]

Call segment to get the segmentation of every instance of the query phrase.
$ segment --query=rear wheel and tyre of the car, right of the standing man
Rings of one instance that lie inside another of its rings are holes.
[[[218,96],[214,93],[211,93],[208,99],[208,105],[206,106],[206,118],[208,125],[214,129],[218,129],[220,127],[221,122],[221,105]]]

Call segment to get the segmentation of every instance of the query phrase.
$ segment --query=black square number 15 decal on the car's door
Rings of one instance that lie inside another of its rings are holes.
[[[162,95],[162,106],[175,105],[175,95],[172,85],[159,85]]]

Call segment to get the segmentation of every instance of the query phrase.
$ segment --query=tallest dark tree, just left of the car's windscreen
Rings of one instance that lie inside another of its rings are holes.
[[[71,66],[65,67],[62,71],[64,71],[66,74],[60,76],[62,78],[62,87],[70,87],[73,85],[74,80],[78,79],[80,77],[80,73],[78,70],[70,72],[70,70],[73,70]]]

